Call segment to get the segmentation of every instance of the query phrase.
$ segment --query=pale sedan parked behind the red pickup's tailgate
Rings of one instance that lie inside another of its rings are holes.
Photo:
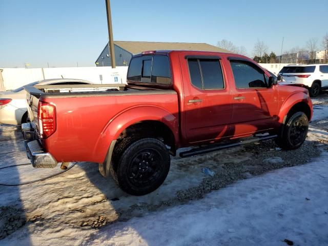
[[[55,78],[35,81],[34,85],[79,85],[93,84],[88,80]],[[12,91],[0,91],[0,123],[20,125],[27,121],[26,91],[19,87]]]

